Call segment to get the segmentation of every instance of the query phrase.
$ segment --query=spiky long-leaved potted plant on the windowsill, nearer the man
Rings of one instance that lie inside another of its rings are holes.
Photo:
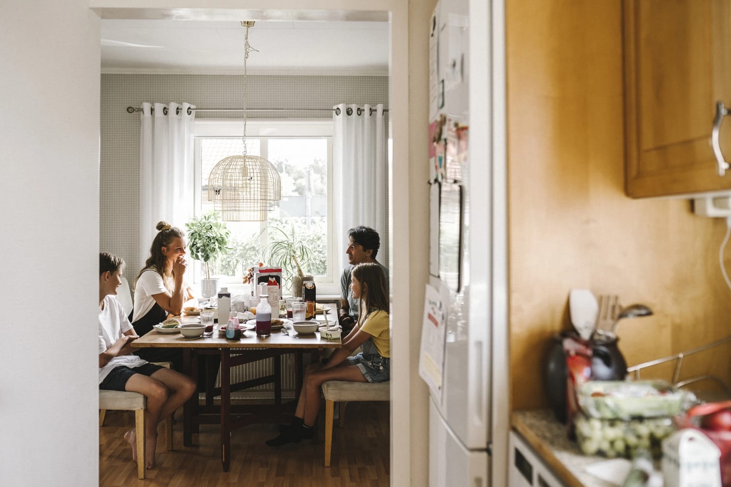
[[[292,286],[292,296],[300,296],[302,279],[306,277],[302,268],[307,267],[312,251],[298,237],[295,225],[289,219],[289,228],[268,226],[269,244],[264,248],[265,261],[269,265],[281,267],[283,286]]]

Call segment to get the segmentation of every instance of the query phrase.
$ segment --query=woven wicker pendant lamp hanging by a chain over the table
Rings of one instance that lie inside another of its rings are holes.
[[[260,156],[246,153],[246,59],[256,50],[249,45],[249,27],[253,21],[243,20],[246,42],[243,56],[243,154],[221,159],[208,177],[208,201],[221,212],[223,221],[265,221],[267,213],[281,200],[279,172]],[[258,51],[257,51],[258,52]]]

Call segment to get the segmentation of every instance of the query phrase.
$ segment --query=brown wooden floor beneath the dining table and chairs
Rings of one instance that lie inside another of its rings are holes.
[[[324,407],[322,410],[324,411]],[[336,407],[337,410],[337,407]],[[270,448],[276,425],[246,426],[231,437],[231,469],[221,471],[219,429],[204,425],[183,447],[182,410],[173,426],[175,450],[165,450],[162,425],[156,467],[145,480],[137,479],[132,450],[122,435],[135,424],[129,411],[108,411],[99,428],[99,486],[112,487],[376,487],[389,485],[389,403],[352,402],[346,408],[346,428],[333,428],[332,467],[322,466],[325,421],[319,418],[318,439]]]

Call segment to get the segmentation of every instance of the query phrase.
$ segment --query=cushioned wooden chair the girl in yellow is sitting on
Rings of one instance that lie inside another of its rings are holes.
[[[390,383],[349,382],[328,380],[322,383],[325,396],[325,467],[330,467],[330,454],[333,449],[333,413],[335,403],[340,404],[338,426],[345,425],[345,405],[354,401],[390,401]]]

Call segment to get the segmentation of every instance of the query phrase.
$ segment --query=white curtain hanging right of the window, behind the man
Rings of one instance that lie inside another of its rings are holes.
[[[335,275],[347,263],[346,232],[365,225],[381,237],[376,259],[382,264],[386,238],[386,151],[383,105],[339,104],[333,107],[333,183],[335,234],[338,247]],[[338,113],[338,110],[339,113]],[[372,110],[372,112],[371,112]]]

